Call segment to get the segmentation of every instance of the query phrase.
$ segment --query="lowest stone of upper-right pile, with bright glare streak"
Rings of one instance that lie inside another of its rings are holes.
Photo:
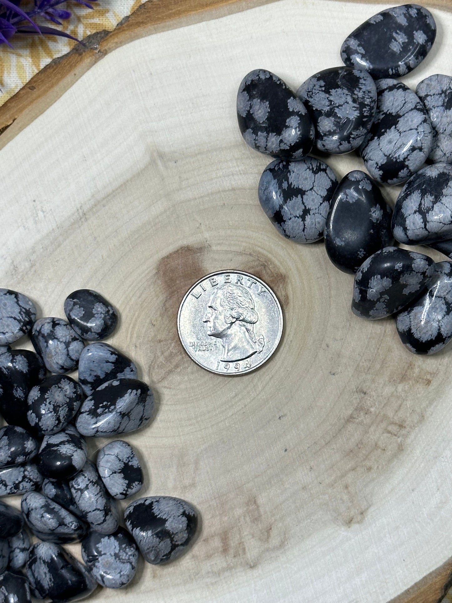
[[[438,262],[428,289],[397,316],[402,343],[414,354],[434,354],[452,339],[452,262]]]

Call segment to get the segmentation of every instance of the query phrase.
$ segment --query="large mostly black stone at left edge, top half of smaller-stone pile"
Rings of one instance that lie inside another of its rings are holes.
[[[7,423],[30,429],[27,396],[45,373],[42,359],[30,350],[12,350],[0,356],[0,412]]]

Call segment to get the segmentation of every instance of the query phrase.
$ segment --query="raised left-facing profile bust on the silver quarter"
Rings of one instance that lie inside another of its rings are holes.
[[[259,315],[253,295],[242,285],[225,283],[210,296],[202,321],[207,334],[222,345],[222,362],[236,362],[262,352],[264,336],[254,334]]]

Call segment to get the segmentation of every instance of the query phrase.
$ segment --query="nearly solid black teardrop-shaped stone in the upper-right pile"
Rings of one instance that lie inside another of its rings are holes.
[[[394,243],[391,207],[374,180],[359,169],[342,178],[330,202],[325,249],[331,262],[354,274],[375,251]]]

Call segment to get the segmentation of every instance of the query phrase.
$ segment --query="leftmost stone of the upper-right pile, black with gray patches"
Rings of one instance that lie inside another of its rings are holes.
[[[237,120],[245,142],[256,151],[281,159],[301,159],[314,142],[306,107],[277,75],[255,69],[237,93]]]

